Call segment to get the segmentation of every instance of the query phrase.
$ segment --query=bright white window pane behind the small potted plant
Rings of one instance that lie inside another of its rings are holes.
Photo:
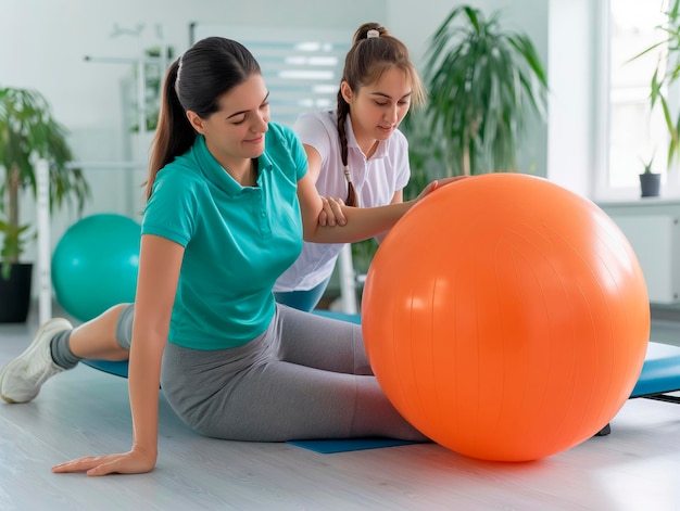
[[[668,131],[660,107],[650,107],[651,79],[666,47],[641,52],[663,40],[667,1],[609,0],[607,194],[637,191],[638,175],[666,173]],[[633,59],[635,58],[635,59]]]

